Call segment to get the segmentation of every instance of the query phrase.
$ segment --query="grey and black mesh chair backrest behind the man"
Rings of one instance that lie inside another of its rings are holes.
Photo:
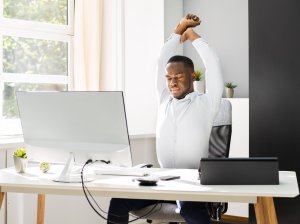
[[[220,109],[211,130],[209,157],[228,157],[232,132],[232,107],[229,100],[222,99]]]

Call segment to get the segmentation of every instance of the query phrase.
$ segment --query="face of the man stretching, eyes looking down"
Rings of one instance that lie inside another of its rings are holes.
[[[182,62],[171,62],[166,66],[166,78],[169,90],[177,99],[182,99],[194,91],[194,72],[186,68]]]

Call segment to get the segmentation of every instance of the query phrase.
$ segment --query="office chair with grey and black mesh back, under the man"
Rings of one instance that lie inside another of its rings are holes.
[[[213,128],[209,140],[209,157],[228,157],[232,130],[232,108],[231,103],[226,100],[221,100],[221,105],[218,114],[214,120]],[[200,158],[199,158],[200,160]],[[224,202],[209,202],[208,213],[213,221],[219,221],[221,216],[227,211],[228,203]],[[140,217],[147,214],[153,205],[147,206],[137,211],[131,211],[134,216]],[[185,220],[179,214],[176,203],[162,203],[146,217],[148,223],[152,221],[158,222],[176,222],[182,223]]]

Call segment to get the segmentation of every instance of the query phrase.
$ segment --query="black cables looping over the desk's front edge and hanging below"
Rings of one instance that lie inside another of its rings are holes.
[[[91,203],[91,201],[90,201],[90,199],[89,199],[89,197],[88,197],[88,195],[87,195],[86,192],[88,192],[89,196],[92,198],[93,202],[96,204],[96,206],[98,207],[98,209],[99,209],[101,212],[103,212],[103,213],[105,213],[105,214],[108,214],[108,213],[105,212],[103,209],[101,209],[101,207],[98,205],[98,203],[96,202],[96,200],[94,199],[94,197],[92,196],[91,192],[89,191],[89,189],[87,188],[87,186],[84,184],[84,181],[83,181],[83,171],[84,171],[84,168],[85,168],[88,164],[90,164],[90,163],[93,164],[93,163],[99,162],[99,161],[100,161],[100,162],[104,162],[104,163],[106,163],[106,164],[109,164],[109,163],[110,163],[109,160],[108,160],[108,161],[105,161],[105,160],[96,160],[96,161],[94,161],[94,162],[93,162],[91,159],[87,160],[87,161],[85,162],[85,164],[83,165],[82,169],[81,169],[81,185],[82,185],[83,193],[84,193],[85,198],[87,199],[89,205],[92,207],[92,209],[93,209],[93,210],[94,210],[94,211],[95,211],[102,219],[108,221],[107,218],[104,217],[102,214],[100,214],[99,211],[97,211],[97,209],[96,209],[96,208],[93,206],[93,204]],[[160,208],[159,208],[158,210],[154,211],[154,209],[158,206],[158,204],[160,204]],[[154,205],[147,213],[145,213],[144,215],[141,215],[141,216],[139,216],[139,217],[137,217],[137,218],[135,218],[135,219],[133,219],[133,220],[128,221],[128,223],[134,222],[134,221],[139,220],[139,219],[141,219],[141,218],[144,218],[144,217],[146,217],[146,216],[148,216],[148,215],[154,214],[155,212],[160,211],[161,208],[162,208],[162,203],[161,203],[161,201],[158,201],[158,202],[157,202],[157,203],[156,203],[156,204],[155,204],[155,205]],[[111,214],[111,215],[116,216],[116,217],[123,217],[123,216],[119,216],[119,215],[116,215],[116,214]],[[113,223],[113,224],[119,224],[119,223],[114,223],[114,222],[111,222],[111,221],[109,221],[109,222],[110,222],[110,223]]]

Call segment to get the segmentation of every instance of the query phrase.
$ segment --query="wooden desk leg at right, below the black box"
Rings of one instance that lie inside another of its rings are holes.
[[[278,224],[272,197],[258,197],[254,209],[257,224]]]

